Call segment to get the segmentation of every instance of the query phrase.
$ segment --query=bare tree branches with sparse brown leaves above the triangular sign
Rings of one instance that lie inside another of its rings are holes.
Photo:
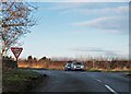
[[[34,7],[25,2],[1,2],[0,10],[0,55],[3,56],[12,45],[35,25],[31,15]]]

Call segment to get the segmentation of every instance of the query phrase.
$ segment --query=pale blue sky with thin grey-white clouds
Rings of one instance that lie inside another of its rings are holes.
[[[21,58],[127,56],[128,2],[37,2]]]

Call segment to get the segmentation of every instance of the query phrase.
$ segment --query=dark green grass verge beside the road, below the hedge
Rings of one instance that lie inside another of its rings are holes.
[[[32,70],[4,70],[2,73],[2,92],[27,92],[46,75]]]

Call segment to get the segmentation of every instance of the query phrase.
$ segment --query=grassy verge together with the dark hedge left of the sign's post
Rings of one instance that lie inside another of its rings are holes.
[[[2,59],[2,93],[27,92],[46,79],[46,74],[31,69],[16,68],[16,62],[9,57]]]

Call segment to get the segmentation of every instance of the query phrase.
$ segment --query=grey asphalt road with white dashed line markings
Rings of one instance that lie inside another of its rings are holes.
[[[35,70],[47,74],[31,92],[95,92],[131,94],[130,77],[121,72]]]

